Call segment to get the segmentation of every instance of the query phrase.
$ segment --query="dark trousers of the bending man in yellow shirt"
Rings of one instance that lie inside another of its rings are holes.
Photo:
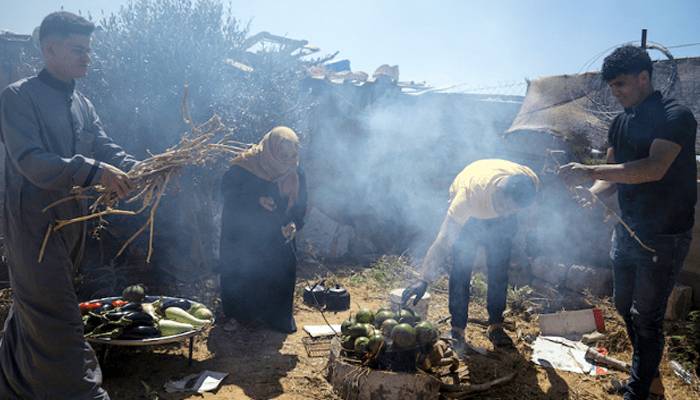
[[[454,245],[454,265],[450,270],[449,307],[452,327],[464,329],[470,300],[470,281],[476,250],[481,245],[486,250],[488,292],[486,309],[489,323],[503,322],[508,293],[508,267],[513,236],[517,230],[515,216],[495,219],[469,220]]]

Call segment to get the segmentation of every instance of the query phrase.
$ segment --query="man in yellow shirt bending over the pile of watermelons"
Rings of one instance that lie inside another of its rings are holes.
[[[472,264],[480,245],[486,250],[488,268],[489,339],[497,347],[512,346],[502,325],[510,249],[517,230],[515,214],[534,202],[539,185],[539,178],[530,168],[498,159],[475,161],[452,182],[450,206],[423,259],[421,278],[404,290],[402,302],[406,304],[415,296],[415,305],[439,276],[449,252],[453,251],[449,309],[457,349],[464,347]],[[459,245],[454,246],[457,242]]]

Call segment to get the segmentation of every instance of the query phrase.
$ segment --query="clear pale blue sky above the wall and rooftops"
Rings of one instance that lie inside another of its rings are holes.
[[[229,1],[223,0],[224,3]],[[0,30],[31,33],[63,7],[99,16],[128,0],[0,0]],[[525,78],[600,68],[617,45],[700,43],[700,0],[354,0],[230,1],[251,33],[306,39],[323,54],[340,51],[370,75],[398,65],[401,80],[481,93],[522,94]],[[673,48],[700,56],[700,45]],[[659,58],[660,54],[651,53]]]

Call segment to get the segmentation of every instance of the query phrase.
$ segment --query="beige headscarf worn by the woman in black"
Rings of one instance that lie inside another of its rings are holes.
[[[276,182],[280,194],[289,198],[287,210],[299,197],[299,137],[286,126],[278,126],[249,150],[233,160],[234,165],[269,182]]]

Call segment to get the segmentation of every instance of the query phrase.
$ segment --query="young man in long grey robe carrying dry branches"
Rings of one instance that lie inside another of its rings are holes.
[[[101,184],[124,197],[124,171],[136,161],[107,137],[90,101],[75,90],[87,74],[95,26],[56,12],[39,29],[45,68],[0,95],[5,147],[5,246],[13,306],[0,341],[0,398],[108,399],[83,324],[73,274],[85,243],[85,225],[51,235],[57,219],[87,213],[83,200],[44,208],[75,186]]]

